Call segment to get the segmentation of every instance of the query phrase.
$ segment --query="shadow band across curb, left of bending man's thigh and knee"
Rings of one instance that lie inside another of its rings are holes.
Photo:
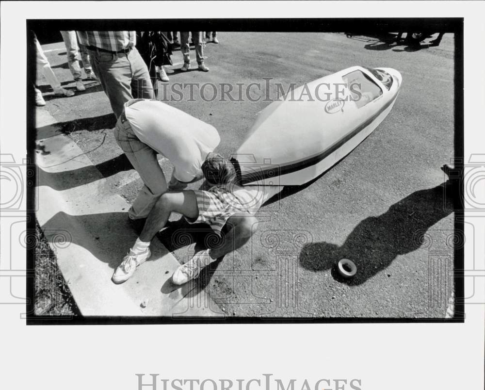
[[[50,154],[50,152],[45,151],[45,148],[42,145],[39,146],[39,148],[36,146],[36,149],[43,154]],[[45,176],[45,179],[41,179],[40,182],[42,182],[43,185],[48,185],[56,191],[68,190],[99,180],[98,171],[101,172],[101,175],[103,175],[104,178],[108,178],[118,172],[134,169],[124,153],[97,165],[89,165],[70,171],[46,172],[40,167],[37,168],[39,178]]]

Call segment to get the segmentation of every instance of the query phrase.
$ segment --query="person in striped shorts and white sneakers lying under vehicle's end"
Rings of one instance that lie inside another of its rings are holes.
[[[136,267],[151,255],[150,242],[167,223],[172,211],[181,213],[187,222],[206,223],[221,236],[227,225],[222,245],[197,252],[187,263],[174,272],[175,284],[183,284],[196,278],[200,270],[212,261],[240,248],[258,227],[256,212],[282,186],[240,186],[233,164],[217,153],[210,152],[202,164],[202,172],[212,185],[209,191],[169,191],[158,199],[148,214],[145,227],[128,255],[113,274],[114,283],[128,280]]]

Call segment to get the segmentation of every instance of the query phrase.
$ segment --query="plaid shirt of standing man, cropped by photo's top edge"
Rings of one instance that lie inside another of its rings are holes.
[[[78,31],[79,42],[84,46],[119,51],[136,45],[134,31]]]

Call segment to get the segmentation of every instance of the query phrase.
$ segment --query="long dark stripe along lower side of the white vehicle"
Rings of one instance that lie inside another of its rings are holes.
[[[399,93],[399,91],[398,91]],[[366,120],[364,123],[361,125],[357,126],[354,130],[352,130],[350,133],[348,133],[345,137],[342,137],[339,141],[337,141],[335,144],[332,146],[328,147],[325,149],[323,152],[312,156],[308,159],[297,161],[297,162],[291,162],[289,164],[283,165],[283,166],[278,166],[274,168],[268,168],[259,172],[252,172],[248,174],[242,174],[240,182],[241,184],[249,184],[254,181],[258,180],[264,180],[264,179],[271,179],[276,176],[282,176],[282,175],[287,175],[305,168],[308,168],[312,165],[315,165],[319,162],[321,162],[323,159],[328,157],[330,154],[335,152],[340,146],[345,144],[347,141],[355,137],[360,131],[364,130],[366,127],[368,127],[380,114],[382,114],[393,102],[396,100],[396,97],[398,95],[396,93],[396,96],[393,97],[391,100],[389,100],[376,114],[372,115],[368,120]],[[238,163],[239,165],[239,163]],[[239,167],[238,167],[239,168]],[[237,169],[239,170],[239,169]]]

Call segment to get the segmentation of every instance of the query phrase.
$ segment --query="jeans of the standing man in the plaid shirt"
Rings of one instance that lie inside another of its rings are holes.
[[[126,54],[88,49],[88,54],[116,118],[128,100],[155,98],[148,69],[136,48]]]

